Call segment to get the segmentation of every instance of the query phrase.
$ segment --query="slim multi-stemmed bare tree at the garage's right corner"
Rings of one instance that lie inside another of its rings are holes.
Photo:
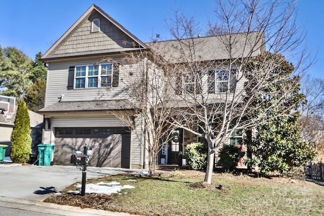
[[[127,74],[125,87],[119,91],[123,94],[119,95],[124,95],[125,107],[128,109],[111,112],[132,128],[133,134],[140,140],[144,148],[143,163],[147,158],[150,174],[154,174],[158,153],[170,141],[175,128],[168,123],[171,108],[161,106],[163,101],[168,101],[173,96],[166,91],[165,73],[156,65],[158,58],[156,54],[143,49],[123,53],[121,62],[115,62],[111,58],[102,60],[112,62],[115,70],[123,70]]]

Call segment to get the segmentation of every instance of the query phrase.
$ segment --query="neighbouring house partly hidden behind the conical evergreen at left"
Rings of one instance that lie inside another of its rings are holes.
[[[16,99],[0,96],[0,144],[8,145],[6,156],[10,155],[10,138],[16,117]],[[37,144],[42,140],[43,115],[28,110],[32,154],[37,155]]]

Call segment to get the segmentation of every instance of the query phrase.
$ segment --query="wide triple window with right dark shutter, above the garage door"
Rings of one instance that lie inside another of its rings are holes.
[[[114,68],[112,63],[75,66],[74,88],[116,87],[118,72],[114,71]],[[114,84],[113,81],[115,82]]]

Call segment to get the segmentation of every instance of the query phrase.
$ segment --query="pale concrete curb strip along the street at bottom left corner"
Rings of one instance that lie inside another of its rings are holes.
[[[10,197],[0,196],[0,206],[28,210],[34,212],[48,213],[54,215],[71,215],[71,216],[82,216],[82,215],[109,215],[109,216],[126,216],[131,215],[123,212],[112,212],[105,210],[96,210],[91,208],[80,208],[68,205],[58,205],[54,203],[46,203],[42,201],[28,200],[28,199],[17,199]]]

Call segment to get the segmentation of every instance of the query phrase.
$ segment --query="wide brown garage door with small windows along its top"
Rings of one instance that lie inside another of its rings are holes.
[[[85,143],[93,150],[90,166],[130,167],[131,134],[128,128],[91,127],[55,129],[54,164],[71,165],[70,157]]]

